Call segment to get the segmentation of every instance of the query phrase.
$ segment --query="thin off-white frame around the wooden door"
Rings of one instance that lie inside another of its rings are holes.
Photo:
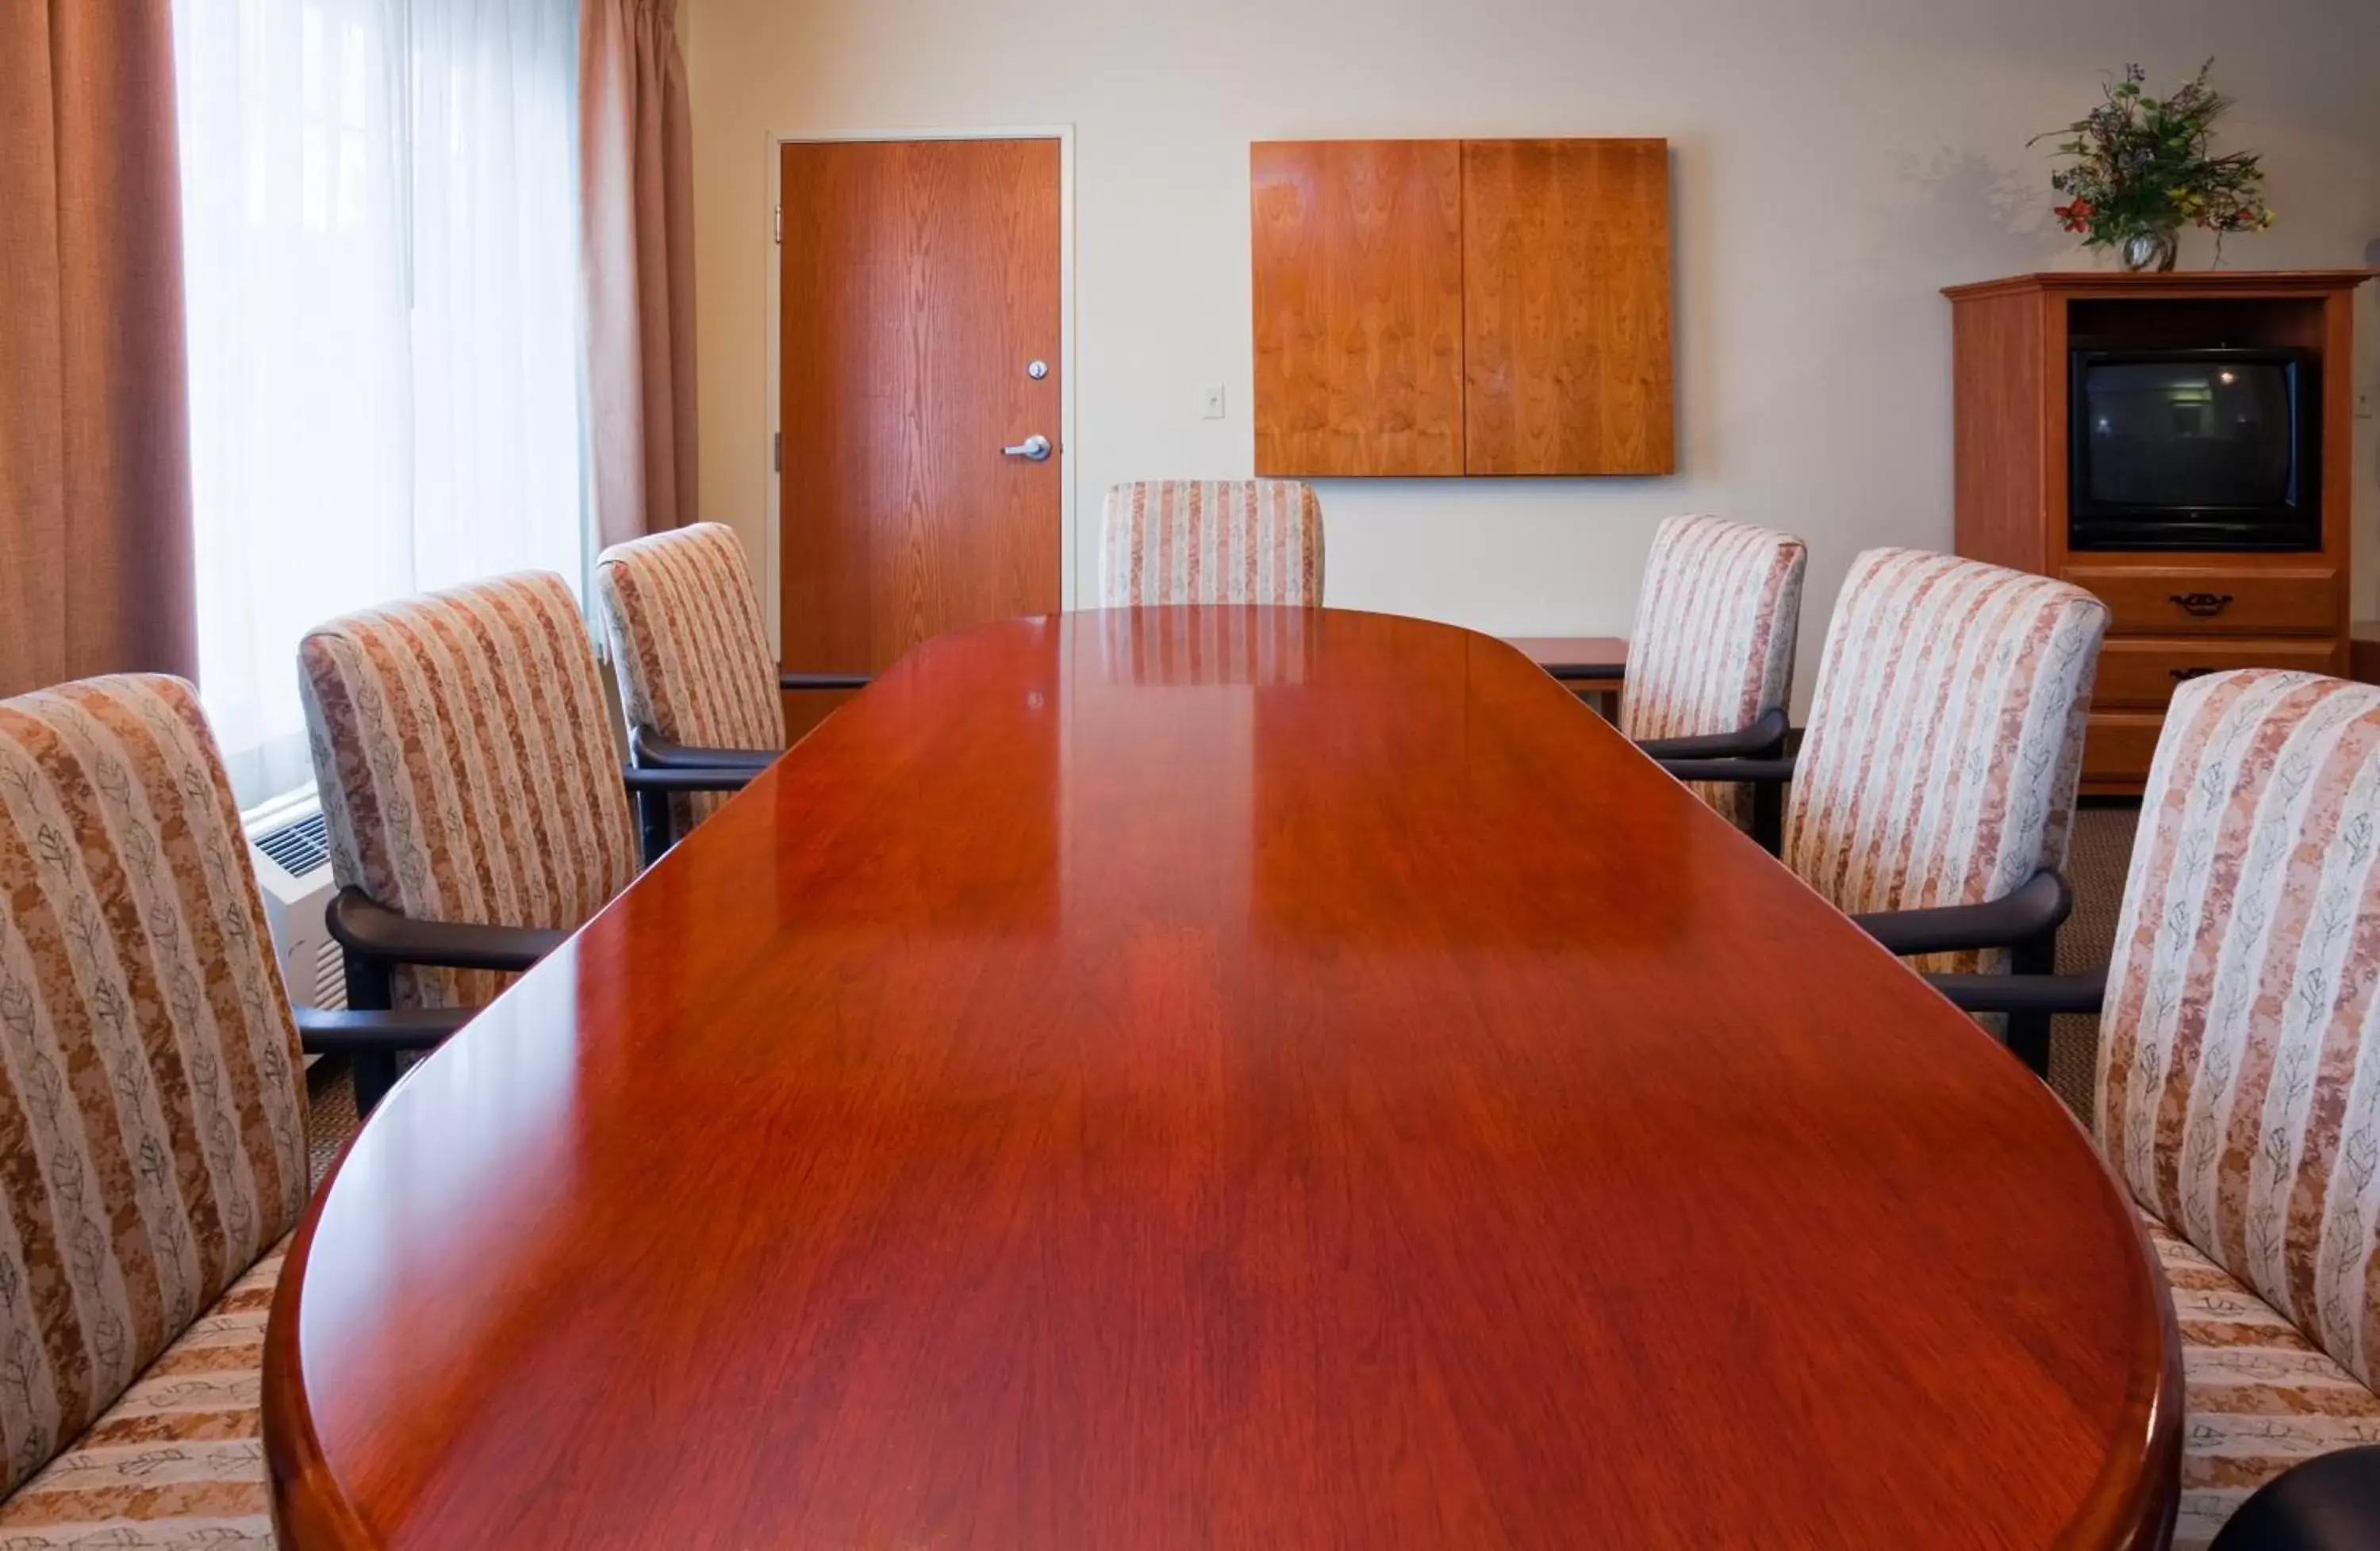
[[[778,257],[781,243],[776,238],[776,212],[785,202],[785,145],[866,145],[881,140],[1057,140],[1057,314],[1059,314],[1059,340],[1057,340],[1057,447],[1059,447],[1059,481],[1057,481],[1057,588],[1059,607],[1073,609],[1078,604],[1076,588],[1076,435],[1073,435],[1073,364],[1076,364],[1076,335],[1073,335],[1073,124],[1002,124],[983,128],[804,128],[804,131],[774,131],[769,136],[769,388],[766,388],[766,416],[771,438],[783,435],[783,404],[778,397],[785,388],[783,362],[778,354],[785,343],[783,324],[783,288],[785,288],[785,264]],[[778,526],[785,521],[785,490],[783,473],[778,471],[776,442],[766,447],[769,457],[769,511],[764,533],[766,545],[766,604],[769,604],[769,649],[785,659],[785,602],[778,597],[783,559],[778,545]]]

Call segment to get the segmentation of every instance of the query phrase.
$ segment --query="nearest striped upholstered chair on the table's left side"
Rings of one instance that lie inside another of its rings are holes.
[[[269,1546],[300,1023],[190,685],[0,699],[0,1546]]]

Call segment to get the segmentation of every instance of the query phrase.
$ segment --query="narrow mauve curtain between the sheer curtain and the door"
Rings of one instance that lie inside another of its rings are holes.
[[[585,0],[578,19],[588,440],[595,538],[695,504],[695,190],[676,0]]]

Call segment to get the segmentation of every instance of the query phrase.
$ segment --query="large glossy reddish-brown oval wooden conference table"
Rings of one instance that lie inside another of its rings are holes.
[[[928,642],[364,1125],[286,1551],[2152,1546],[2056,1099],[1511,647]]]

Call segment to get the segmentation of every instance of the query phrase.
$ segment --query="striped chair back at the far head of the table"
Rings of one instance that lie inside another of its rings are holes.
[[[1140,481],[1107,492],[1100,607],[1323,602],[1323,504],[1285,478]]]

